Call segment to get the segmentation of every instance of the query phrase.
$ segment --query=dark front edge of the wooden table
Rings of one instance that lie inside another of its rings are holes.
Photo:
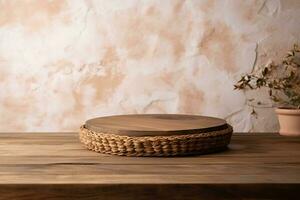
[[[298,199],[296,184],[26,184],[0,187],[1,200]]]

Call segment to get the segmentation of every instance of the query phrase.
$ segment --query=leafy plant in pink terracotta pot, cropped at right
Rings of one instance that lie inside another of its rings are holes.
[[[280,63],[269,62],[243,75],[237,90],[268,92],[279,119],[281,135],[300,136],[300,48],[294,45]],[[253,101],[253,99],[247,99]],[[261,102],[257,102],[261,104]],[[253,109],[253,114],[255,110]]]

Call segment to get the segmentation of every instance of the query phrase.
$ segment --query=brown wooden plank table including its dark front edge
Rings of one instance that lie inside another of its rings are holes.
[[[225,152],[132,158],[84,149],[77,133],[0,133],[0,199],[291,199],[300,138],[234,134]]]

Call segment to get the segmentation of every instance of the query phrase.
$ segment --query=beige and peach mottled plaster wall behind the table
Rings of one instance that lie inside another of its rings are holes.
[[[299,0],[0,0],[0,131],[70,131],[123,113],[251,117],[240,74],[300,35]]]

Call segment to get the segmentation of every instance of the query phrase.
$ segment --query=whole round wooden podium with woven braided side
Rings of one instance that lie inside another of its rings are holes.
[[[86,121],[80,140],[90,150],[122,156],[183,156],[226,149],[232,127],[213,117],[117,115]]]

